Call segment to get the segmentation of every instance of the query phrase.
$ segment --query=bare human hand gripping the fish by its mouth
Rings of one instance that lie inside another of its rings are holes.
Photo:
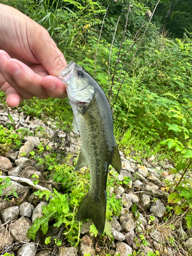
[[[47,30],[18,10],[0,4],[0,90],[7,104],[67,97],[56,77],[67,62]]]

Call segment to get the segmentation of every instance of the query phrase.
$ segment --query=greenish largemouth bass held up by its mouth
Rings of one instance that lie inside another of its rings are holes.
[[[94,78],[73,60],[60,72],[73,110],[74,132],[81,149],[75,171],[89,166],[90,189],[77,210],[77,221],[91,219],[102,234],[106,215],[106,183],[111,164],[120,173],[121,158],[113,132],[108,99]]]

